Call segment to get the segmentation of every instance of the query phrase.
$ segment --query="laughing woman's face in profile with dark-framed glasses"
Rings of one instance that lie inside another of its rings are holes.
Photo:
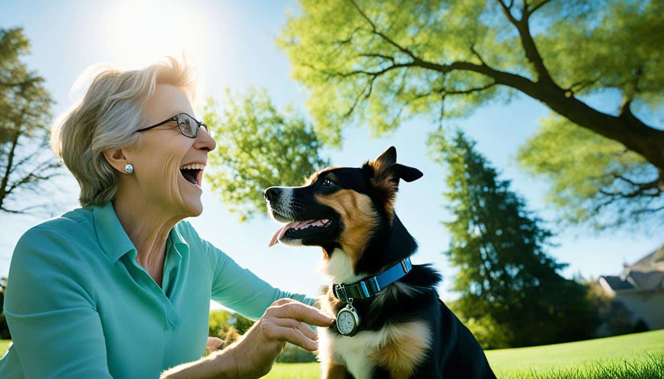
[[[179,113],[197,117],[182,90],[169,84],[157,84],[153,96],[143,106],[145,125],[140,127],[154,125]],[[124,151],[127,162],[133,165],[131,175],[145,201],[178,216],[201,214],[203,170],[196,169],[205,168],[207,155],[216,146],[214,139],[203,127],[196,138],[187,137],[180,133],[175,122],[141,134],[141,143]],[[195,168],[184,171],[188,179],[181,171],[183,167]]]

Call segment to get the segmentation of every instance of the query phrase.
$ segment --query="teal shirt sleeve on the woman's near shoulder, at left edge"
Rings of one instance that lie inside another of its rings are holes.
[[[3,309],[26,379],[112,378],[87,266],[60,232],[23,234]]]

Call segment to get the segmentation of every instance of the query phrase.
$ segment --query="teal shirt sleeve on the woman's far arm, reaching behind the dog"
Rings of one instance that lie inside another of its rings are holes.
[[[307,305],[313,305],[316,301],[316,299],[306,295],[272,287],[252,271],[238,265],[210,242],[198,238],[201,242],[201,248],[210,257],[212,268],[211,297],[224,307],[228,307],[244,317],[257,320],[274,301],[283,297],[290,297]]]

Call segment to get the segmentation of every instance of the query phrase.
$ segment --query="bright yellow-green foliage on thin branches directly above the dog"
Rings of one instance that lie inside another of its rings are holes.
[[[473,72],[443,74],[409,65],[410,54],[395,46],[440,63],[479,63],[469,50],[473,44],[498,44],[503,55],[515,42],[498,38],[498,31],[477,22],[485,3],[357,1],[356,6],[353,1],[300,1],[303,12],[290,18],[279,44],[288,52],[293,77],[311,90],[307,106],[317,131],[326,141],[339,143],[339,131],[348,123],[369,125],[378,134],[414,115],[440,115],[443,99],[446,115],[459,116],[506,94],[491,86],[457,96],[454,92],[489,86],[492,80]],[[372,23],[386,38],[375,33]]]

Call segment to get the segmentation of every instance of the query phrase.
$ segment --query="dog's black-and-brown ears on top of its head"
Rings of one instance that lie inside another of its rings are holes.
[[[392,214],[399,179],[406,182],[416,181],[422,177],[422,171],[396,163],[396,148],[390,146],[378,158],[365,163],[362,167],[369,178],[371,187],[376,195],[382,199],[386,212]]]

